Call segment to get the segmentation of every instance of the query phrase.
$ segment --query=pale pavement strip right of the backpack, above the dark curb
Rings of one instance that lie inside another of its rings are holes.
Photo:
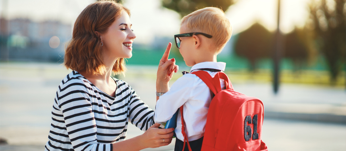
[[[235,90],[258,97],[264,117],[346,124],[346,91],[333,87],[282,84],[274,95],[270,84],[234,85]]]

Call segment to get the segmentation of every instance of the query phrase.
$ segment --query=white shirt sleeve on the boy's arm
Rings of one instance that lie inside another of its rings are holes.
[[[165,123],[190,97],[196,75],[185,74],[177,79],[171,89],[160,97],[155,107],[155,122]]]

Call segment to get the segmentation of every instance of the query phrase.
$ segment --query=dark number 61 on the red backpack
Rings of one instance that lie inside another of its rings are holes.
[[[244,120],[244,138],[245,138],[245,141],[249,141],[251,139],[251,136],[252,136],[252,140],[257,140],[258,139],[257,117],[258,117],[257,114],[255,114],[252,119],[251,119],[250,115],[245,117],[245,120]],[[254,124],[254,133],[253,134],[252,134],[251,126],[247,125],[247,124]]]

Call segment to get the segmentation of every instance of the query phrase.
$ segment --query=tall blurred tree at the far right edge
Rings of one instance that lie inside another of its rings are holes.
[[[326,57],[331,82],[335,83],[346,58],[346,0],[311,0],[309,8],[306,26],[314,32],[317,48]]]

